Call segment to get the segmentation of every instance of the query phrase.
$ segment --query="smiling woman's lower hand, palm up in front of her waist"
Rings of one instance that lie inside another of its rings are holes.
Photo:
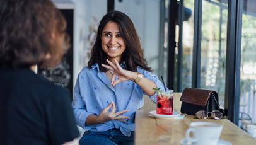
[[[112,110],[109,112],[111,107],[112,107]],[[100,112],[100,114],[98,115],[98,121],[107,122],[111,120],[119,120],[122,122],[126,122],[126,120],[124,119],[130,119],[130,117],[122,116],[123,113],[128,112],[129,110],[122,110],[119,112],[115,112],[115,111],[116,111],[115,103],[113,103],[112,101],[107,107],[103,108],[103,110]]]

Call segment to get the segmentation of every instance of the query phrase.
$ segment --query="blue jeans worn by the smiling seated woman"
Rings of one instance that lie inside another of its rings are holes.
[[[86,131],[79,141],[80,145],[100,144],[100,145],[133,145],[134,131],[127,137],[120,129],[110,129],[103,132]]]

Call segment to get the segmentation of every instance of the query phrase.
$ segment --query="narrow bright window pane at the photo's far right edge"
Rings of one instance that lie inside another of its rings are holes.
[[[240,115],[243,113],[242,125],[256,122],[256,9],[253,7],[255,4],[256,1],[243,3],[240,79]],[[246,126],[243,127],[247,129]],[[256,137],[255,133],[252,135]]]

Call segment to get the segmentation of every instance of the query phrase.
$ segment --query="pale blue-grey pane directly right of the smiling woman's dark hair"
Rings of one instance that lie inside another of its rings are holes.
[[[144,57],[153,74],[158,74],[160,1],[155,0],[115,0],[115,10],[127,14],[141,39]]]

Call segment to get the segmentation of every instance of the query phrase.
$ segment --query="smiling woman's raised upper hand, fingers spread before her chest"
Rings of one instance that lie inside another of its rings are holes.
[[[107,59],[109,66],[102,64],[103,67],[108,69],[108,71],[110,71],[110,73],[113,74],[112,81],[111,81],[112,86],[115,86],[115,84],[120,83],[121,81],[127,81],[127,80],[131,79],[132,75],[134,75],[134,73],[135,73],[132,71],[127,71],[125,69],[122,69],[122,67],[120,67],[120,65],[119,65],[119,62],[117,62],[117,60],[115,60],[115,59],[114,59],[114,61],[115,61],[115,64],[113,64],[113,62],[111,62]],[[116,76],[118,76],[118,79],[115,80]]]

